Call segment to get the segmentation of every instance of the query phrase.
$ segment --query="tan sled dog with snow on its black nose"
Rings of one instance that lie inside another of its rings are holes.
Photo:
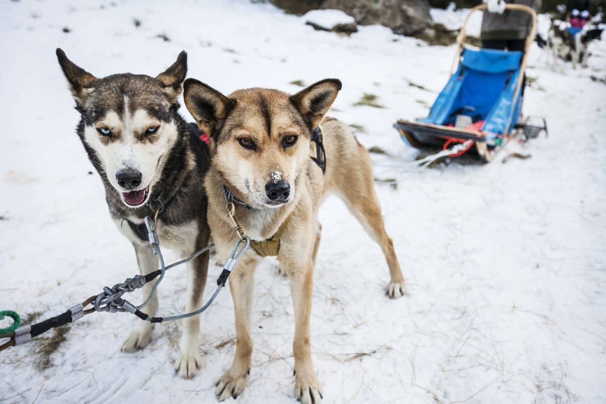
[[[310,158],[311,148],[316,149],[319,143],[311,143],[314,129],[339,90],[339,80],[326,79],[293,96],[265,88],[224,96],[194,79],[184,83],[185,105],[211,139],[211,170],[205,189],[208,224],[219,257],[227,257],[238,240],[226,202],[235,207],[233,216],[244,234],[262,242],[251,244],[253,248],[242,256],[229,278],[238,342],[231,368],[217,382],[219,400],[237,397],[246,386],[253,351],[253,273],[262,255],[273,251],[282,271],[290,277],[295,308],[295,396],[303,403],[321,401],[321,386],[311,363],[309,327],[312,270],[321,229],[316,215],[326,194],[338,194],[381,246],[391,275],[387,294],[394,298],[405,294],[393,242],[385,233],[366,149],[347,125],[326,119],[322,125],[325,173]],[[270,238],[273,240],[264,243]]]

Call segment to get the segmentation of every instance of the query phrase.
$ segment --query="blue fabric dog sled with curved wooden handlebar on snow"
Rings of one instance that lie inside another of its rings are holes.
[[[465,27],[471,13],[485,8],[485,4],[473,7],[465,18],[451,68],[454,73],[427,118],[414,122],[400,120],[394,124],[402,139],[412,147],[442,147],[441,152],[431,156],[434,160],[475,150],[488,162],[511,139],[524,142],[543,130],[547,133],[543,118],[531,117],[517,122],[528,48],[536,33],[536,13],[520,4],[505,7],[532,16],[524,52],[471,47],[465,44]]]

